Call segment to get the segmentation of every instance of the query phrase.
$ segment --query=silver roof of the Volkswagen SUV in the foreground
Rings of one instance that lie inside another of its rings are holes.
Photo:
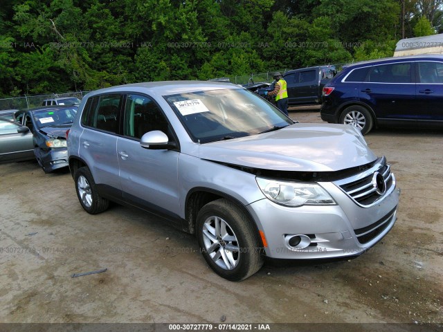
[[[99,95],[101,93],[112,92],[144,92],[151,91],[159,95],[174,95],[177,93],[209,91],[217,89],[242,89],[241,86],[230,82],[216,81],[159,81],[159,82],[143,82],[134,84],[125,84],[112,86],[110,88],[100,89],[88,93],[88,96]]]

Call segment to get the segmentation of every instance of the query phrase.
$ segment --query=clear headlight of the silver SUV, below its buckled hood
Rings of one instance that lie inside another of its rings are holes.
[[[297,183],[256,178],[264,196],[285,206],[334,205],[334,199],[316,183]]]

